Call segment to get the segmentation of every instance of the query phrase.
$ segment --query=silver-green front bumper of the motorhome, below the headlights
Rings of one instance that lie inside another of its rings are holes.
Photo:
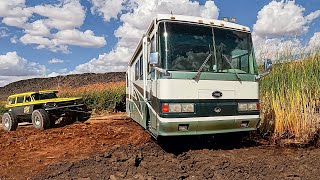
[[[159,136],[221,134],[254,131],[259,115],[219,116],[198,118],[159,118]]]

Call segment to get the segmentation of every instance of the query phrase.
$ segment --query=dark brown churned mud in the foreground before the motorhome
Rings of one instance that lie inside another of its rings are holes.
[[[319,149],[268,146],[173,154],[149,142],[50,165],[35,179],[318,179],[319,155]]]

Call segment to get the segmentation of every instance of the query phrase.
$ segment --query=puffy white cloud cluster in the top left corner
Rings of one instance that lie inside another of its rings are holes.
[[[70,45],[93,48],[106,45],[105,38],[95,36],[91,30],[78,30],[84,23],[85,13],[79,0],[61,0],[58,4],[34,7],[26,7],[24,0],[0,2],[2,23],[24,30],[25,34],[20,37],[23,44],[35,44],[37,49],[53,52],[69,53]],[[35,14],[43,18],[28,22]],[[53,34],[54,31],[57,32]],[[16,43],[16,38],[11,42]]]

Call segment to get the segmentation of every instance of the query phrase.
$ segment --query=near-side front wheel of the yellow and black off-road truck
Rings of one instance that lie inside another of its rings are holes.
[[[32,112],[32,124],[36,129],[45,130],[50,128],[50,117],[47,111],[37,109]]]

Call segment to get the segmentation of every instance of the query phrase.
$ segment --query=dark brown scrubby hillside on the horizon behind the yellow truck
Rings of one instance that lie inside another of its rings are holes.
[[[82,87],[96,83],[109,83],[125,81],[125,72],[111,72],[103,74],[73,74],[51,78],[35,78],[13,82],[0,87],[0,101],[5,100],[10,94],[44,89],[57,89],[61,87]]]

